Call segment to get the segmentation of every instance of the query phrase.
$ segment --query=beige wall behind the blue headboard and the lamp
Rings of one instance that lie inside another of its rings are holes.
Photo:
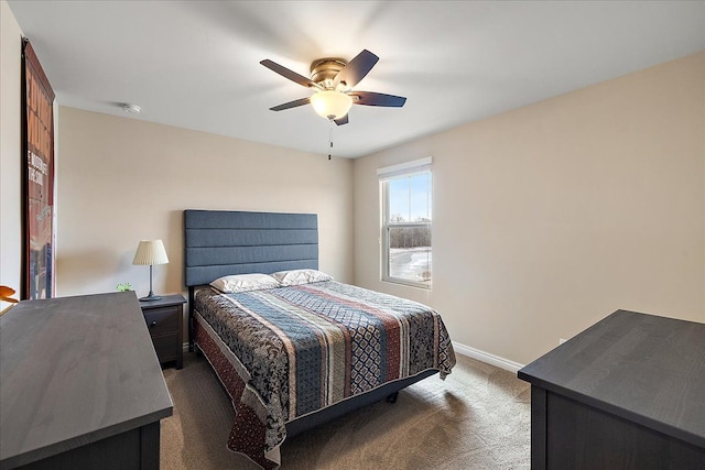
[[[321,269],[352,281],[349,160],[74,108],[59,108],[56,281],[59,296],[149,291],[133,266],[141,239],[163,239],[154,292],[183,284],[184,209],[316,212]]]

